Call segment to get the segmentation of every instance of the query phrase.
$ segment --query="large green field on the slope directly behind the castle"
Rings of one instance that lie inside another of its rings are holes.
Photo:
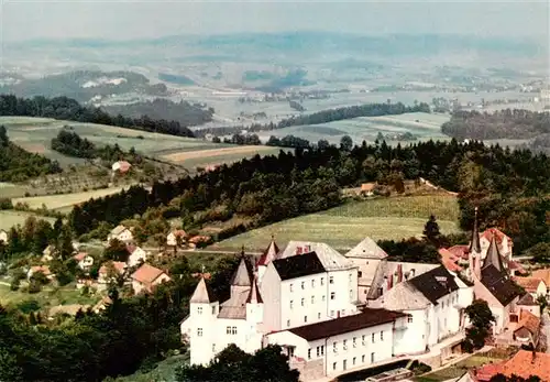
[[[264,250],[272,234],[280,247],[290,240],[323,241],[349,249],[371,237],[374,240],[419,237],[433,214],[443,233],[460,231],[457,198],[422,195],[350,201],[327,211],[301,216],[258,228],[217,243],[220,249]],[[212,247],[213,249],[213,247]]]

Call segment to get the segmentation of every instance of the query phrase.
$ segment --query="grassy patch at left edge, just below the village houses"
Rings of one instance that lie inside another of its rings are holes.
[[[46,285],[40,293],[30,294],[22,291],[10,291],[10,287],[4,283],[9,283],[9,280],[3,279],[2,284],[0,284],[0,304],[2,305],[19,305],[25,301],[36,301],[41,308],[50,308],[70,304],[94,305],[100,298],[99,296],[82,296],[74,284],[58,288]]]

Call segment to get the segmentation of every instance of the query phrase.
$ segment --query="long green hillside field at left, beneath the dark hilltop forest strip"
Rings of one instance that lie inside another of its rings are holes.
[[[233,144],[212,143],[199,139],[151,133],[103,124],[58,121],[47,118],[0,117],[0,124],[6,125],[10,140],[26,151],[42,154],[58,161],[62,165],[84,163],[81,159],[68,157],[51,149],[52,138],[57,137],[64,125],[70,125],[81,138],[97,144],[118,143],[123,150],[134,148],[138,152],[152,157],[164,159],[166,155],[200,151],[199,156],[186,160],[175,160],[174,163],[189,168],[239,161],[254,156],[256,153],[278,153],[278,149],[263,146],[238,146],[239,154],[220,155],[218,150],[235,148]]]

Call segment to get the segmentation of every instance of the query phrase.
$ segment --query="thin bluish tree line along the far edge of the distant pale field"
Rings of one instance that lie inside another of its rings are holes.
[[[206,134],[229,135],[239,133],[242,130],[246,130],[249,132],[271,131],[289,128],[293,125],[328,123],[359,117],[396,116],[407,112],[430,112],[430,106],[425,102],[415,106],[405,106],[402,102],[349,106],[337,109],[321,110],[311,114],[290,117],[283,119],[278,123],[252,123],[250,127],[240,125],[200,129],[199,131],[197,131],[197,134],[200,134],[200,137],[205,137]]]

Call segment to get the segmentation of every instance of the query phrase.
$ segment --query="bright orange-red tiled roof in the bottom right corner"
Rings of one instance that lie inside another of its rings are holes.
[[[519,350],[508,361],[504,361],[499,364],[487,364],[477,369],[476,376],[479,381],[488,381],[498,373],[506,376],[516,374],[524,379],[537,375],[541,381],[550,381],[550,354]]]

